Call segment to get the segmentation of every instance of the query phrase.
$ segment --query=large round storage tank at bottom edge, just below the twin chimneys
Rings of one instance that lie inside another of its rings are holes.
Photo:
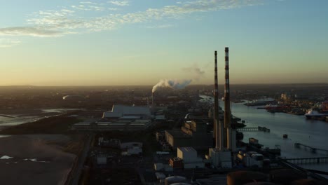
[[[261,182],[268,179],[267,175],[261,172],[237,171],[226,175],[227,185],[242,185],[249,182]]]

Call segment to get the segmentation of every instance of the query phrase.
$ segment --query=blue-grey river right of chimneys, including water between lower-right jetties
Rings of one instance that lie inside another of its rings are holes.
[[[220,105],[224,105],[220,102]],[[231,104],[234,116],[246,121],[247,127],[266,127],[271,132],[243,132],[243,142],[248,142],[250,137],[259,139],[259,143],[270,148],[276,144],[281,146],[281,156],[286,158],[310,158],[328,156],[327,152],[318,151],[311,153],[310,150],[297,149],[294,143],[299,142],[317,149],[328,150],[328,123],[324,121],[307,120],[305,116],[296,116],[285,113],[268,113],[265,109],[247,107],[243,104]],[[282,135],[287,134],[288,139]],[[306,169],[321,170],[328,172],[328,164],[323,163],[300,165]]]

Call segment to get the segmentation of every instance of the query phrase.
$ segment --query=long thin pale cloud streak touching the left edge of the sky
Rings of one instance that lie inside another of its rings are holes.
[[[49,36],[62,36],[64,32],[42,29],[37,27],[7,27],[0,28],[0,35],[8,36],[39,36],[39,37],[49,37]]]

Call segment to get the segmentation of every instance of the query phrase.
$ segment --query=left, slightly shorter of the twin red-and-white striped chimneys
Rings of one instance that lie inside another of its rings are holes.
[[[219,121],[219,88],[217,84],[217,51],[214,52],[214,123],[213,123],[213,132],[215,135],[215,148],[221,150],[223,147],[223,140],[221,135],[221,123]]]

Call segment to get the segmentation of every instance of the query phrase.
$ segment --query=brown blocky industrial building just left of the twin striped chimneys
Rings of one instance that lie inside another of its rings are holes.
[[[185,121],[181,130],[165,130],[165,139],[173,149],[187,146],[208,149],[212,146],[212,134],[207,132],[203,121]]]

